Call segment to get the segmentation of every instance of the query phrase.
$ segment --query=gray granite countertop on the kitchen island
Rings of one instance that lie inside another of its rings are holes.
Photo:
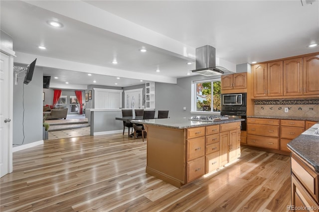
[[[154,126],[162,126],[174,129],[185,129],[185,128],[192,128],[192,127],[199,127],[199,126],[208,126],[214,124],[222,124],[222,123],[230,123],[236,121],[243,121],[245,119],[242,118],[233,118],[233,119],[226,119],[221,121],[193,121],[188,120],[190,117],[184,118],[158,118],[158,119],[143,119],[143,120],[132,120],[132,123],[139,123],[139,124],[148,124]]]

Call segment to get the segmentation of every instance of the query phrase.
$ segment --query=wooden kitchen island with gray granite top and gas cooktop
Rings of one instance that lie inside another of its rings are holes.
[[[240,156],[242,120],[163,118],[132,122],[143,124],[147,131],[146,172],[180,188]]]

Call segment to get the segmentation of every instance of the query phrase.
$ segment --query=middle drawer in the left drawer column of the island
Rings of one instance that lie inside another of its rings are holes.
[[[205,137],[187,140],[187,161],[205,155]]]

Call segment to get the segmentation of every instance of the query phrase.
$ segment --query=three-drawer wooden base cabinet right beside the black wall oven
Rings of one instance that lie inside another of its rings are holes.
[[[280,120],[247,118],[247,145],[279,150]]]

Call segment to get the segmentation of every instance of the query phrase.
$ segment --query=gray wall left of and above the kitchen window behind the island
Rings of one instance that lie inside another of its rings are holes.
[[[177,79],[177,84],[155,83],[156,110],[169,110],[169,117],[189,117],[198,114],[190,113],[191,83],[197,80],[212,79],[205,76],[193,76]],[[186,110],[183,110],[183,107]]]

